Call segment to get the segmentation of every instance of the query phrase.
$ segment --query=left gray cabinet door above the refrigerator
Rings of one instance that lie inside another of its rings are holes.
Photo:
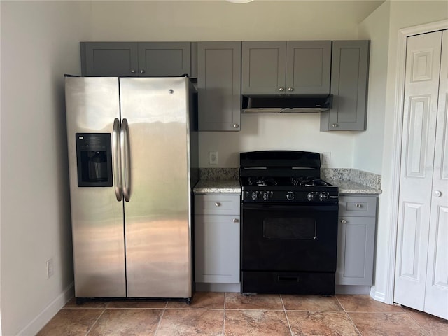
[[[81,42],[83,76],[138,76],[136,42]]]

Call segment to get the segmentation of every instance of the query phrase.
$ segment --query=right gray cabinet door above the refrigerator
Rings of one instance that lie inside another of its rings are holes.
[[[140,42],[139,76],[190,76],[190,42]]]

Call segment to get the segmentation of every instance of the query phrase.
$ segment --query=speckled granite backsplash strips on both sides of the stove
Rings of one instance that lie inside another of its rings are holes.
[[[333,181],[353,181],[381,189],[381,175],[353,168],[321,168],[321,178]],[[201,180],[238,180],[238,168],[200,168]]]

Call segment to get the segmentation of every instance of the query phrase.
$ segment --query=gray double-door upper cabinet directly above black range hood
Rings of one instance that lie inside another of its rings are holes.
[[[242,94],[328,94],[331,41],[242,43]]]

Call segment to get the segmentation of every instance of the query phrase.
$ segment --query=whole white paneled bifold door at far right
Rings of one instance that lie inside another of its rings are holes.
[[[439,94],[441,49],[442,31],[407,39],[394,301],[448,318],[447,65]]]

